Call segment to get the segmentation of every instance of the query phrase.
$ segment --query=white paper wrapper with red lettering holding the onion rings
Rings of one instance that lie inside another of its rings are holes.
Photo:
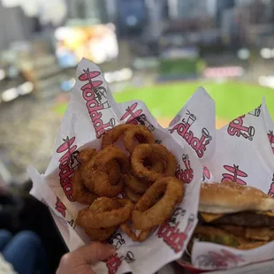
[[[156,140],[163,143],[177,157],[178,176],[186,182],[184,201],[175,209],[172,217],[157,227],[143,243],[133,242],[118,231],[109,241],[117,248],[117,254],[110,257],[107,262],[93,265],[92,268],[95,273],[155,273],[165,264],[179,259],[186,250],[197,223],[202,164],[194,150],[186,145],[187,143],[175,141],[175,134],[170,134],[169,131],[171,128],[168,130],[158,125],[144,103],[140,101],[115,103],[97,65],[82,59],[76,77],[71,100],[59,128],[47,170],[44,174],[39,174],[34,167],[28,169],[28,174],[34,182],[31,194],[49,206],[70,250],[88,243],[90,241],[88,235],[75,225],[78,211],[87,205],[75,202],[72,196],[72,175],[79,165],[77,159],[79,151],[83,148],[100,149],[103,133],[113,126],[123,123],[148,126],[156,136]],[[205,96],[205,100],[214,105],[204,90],[198,91],[198,94]],[[193,130],[189,130],[188,126],[186,132],[189,138],[192,138],[191,143],[194,144],[194,148],[197,147],[199,153],[202,151],[207,156],[211,150],[212,156],[214,152],[212,146],[202,147],[201,143],[210,138],[213,143],[213,136],[208,131],[198,132],[195,127],[194,116],[197,120],[201,118],[202,122],[208,123],[203,117],[202,111],[205,108],[201,103],[201,110],[193,110],[194,103],[191,103],[192,108],[187,108],[186,117],[181,118],[185,118],[186,126],[189,124]],[[215,111],[212,109],[212,113],[209,111],[208,114],[213,117]]]

